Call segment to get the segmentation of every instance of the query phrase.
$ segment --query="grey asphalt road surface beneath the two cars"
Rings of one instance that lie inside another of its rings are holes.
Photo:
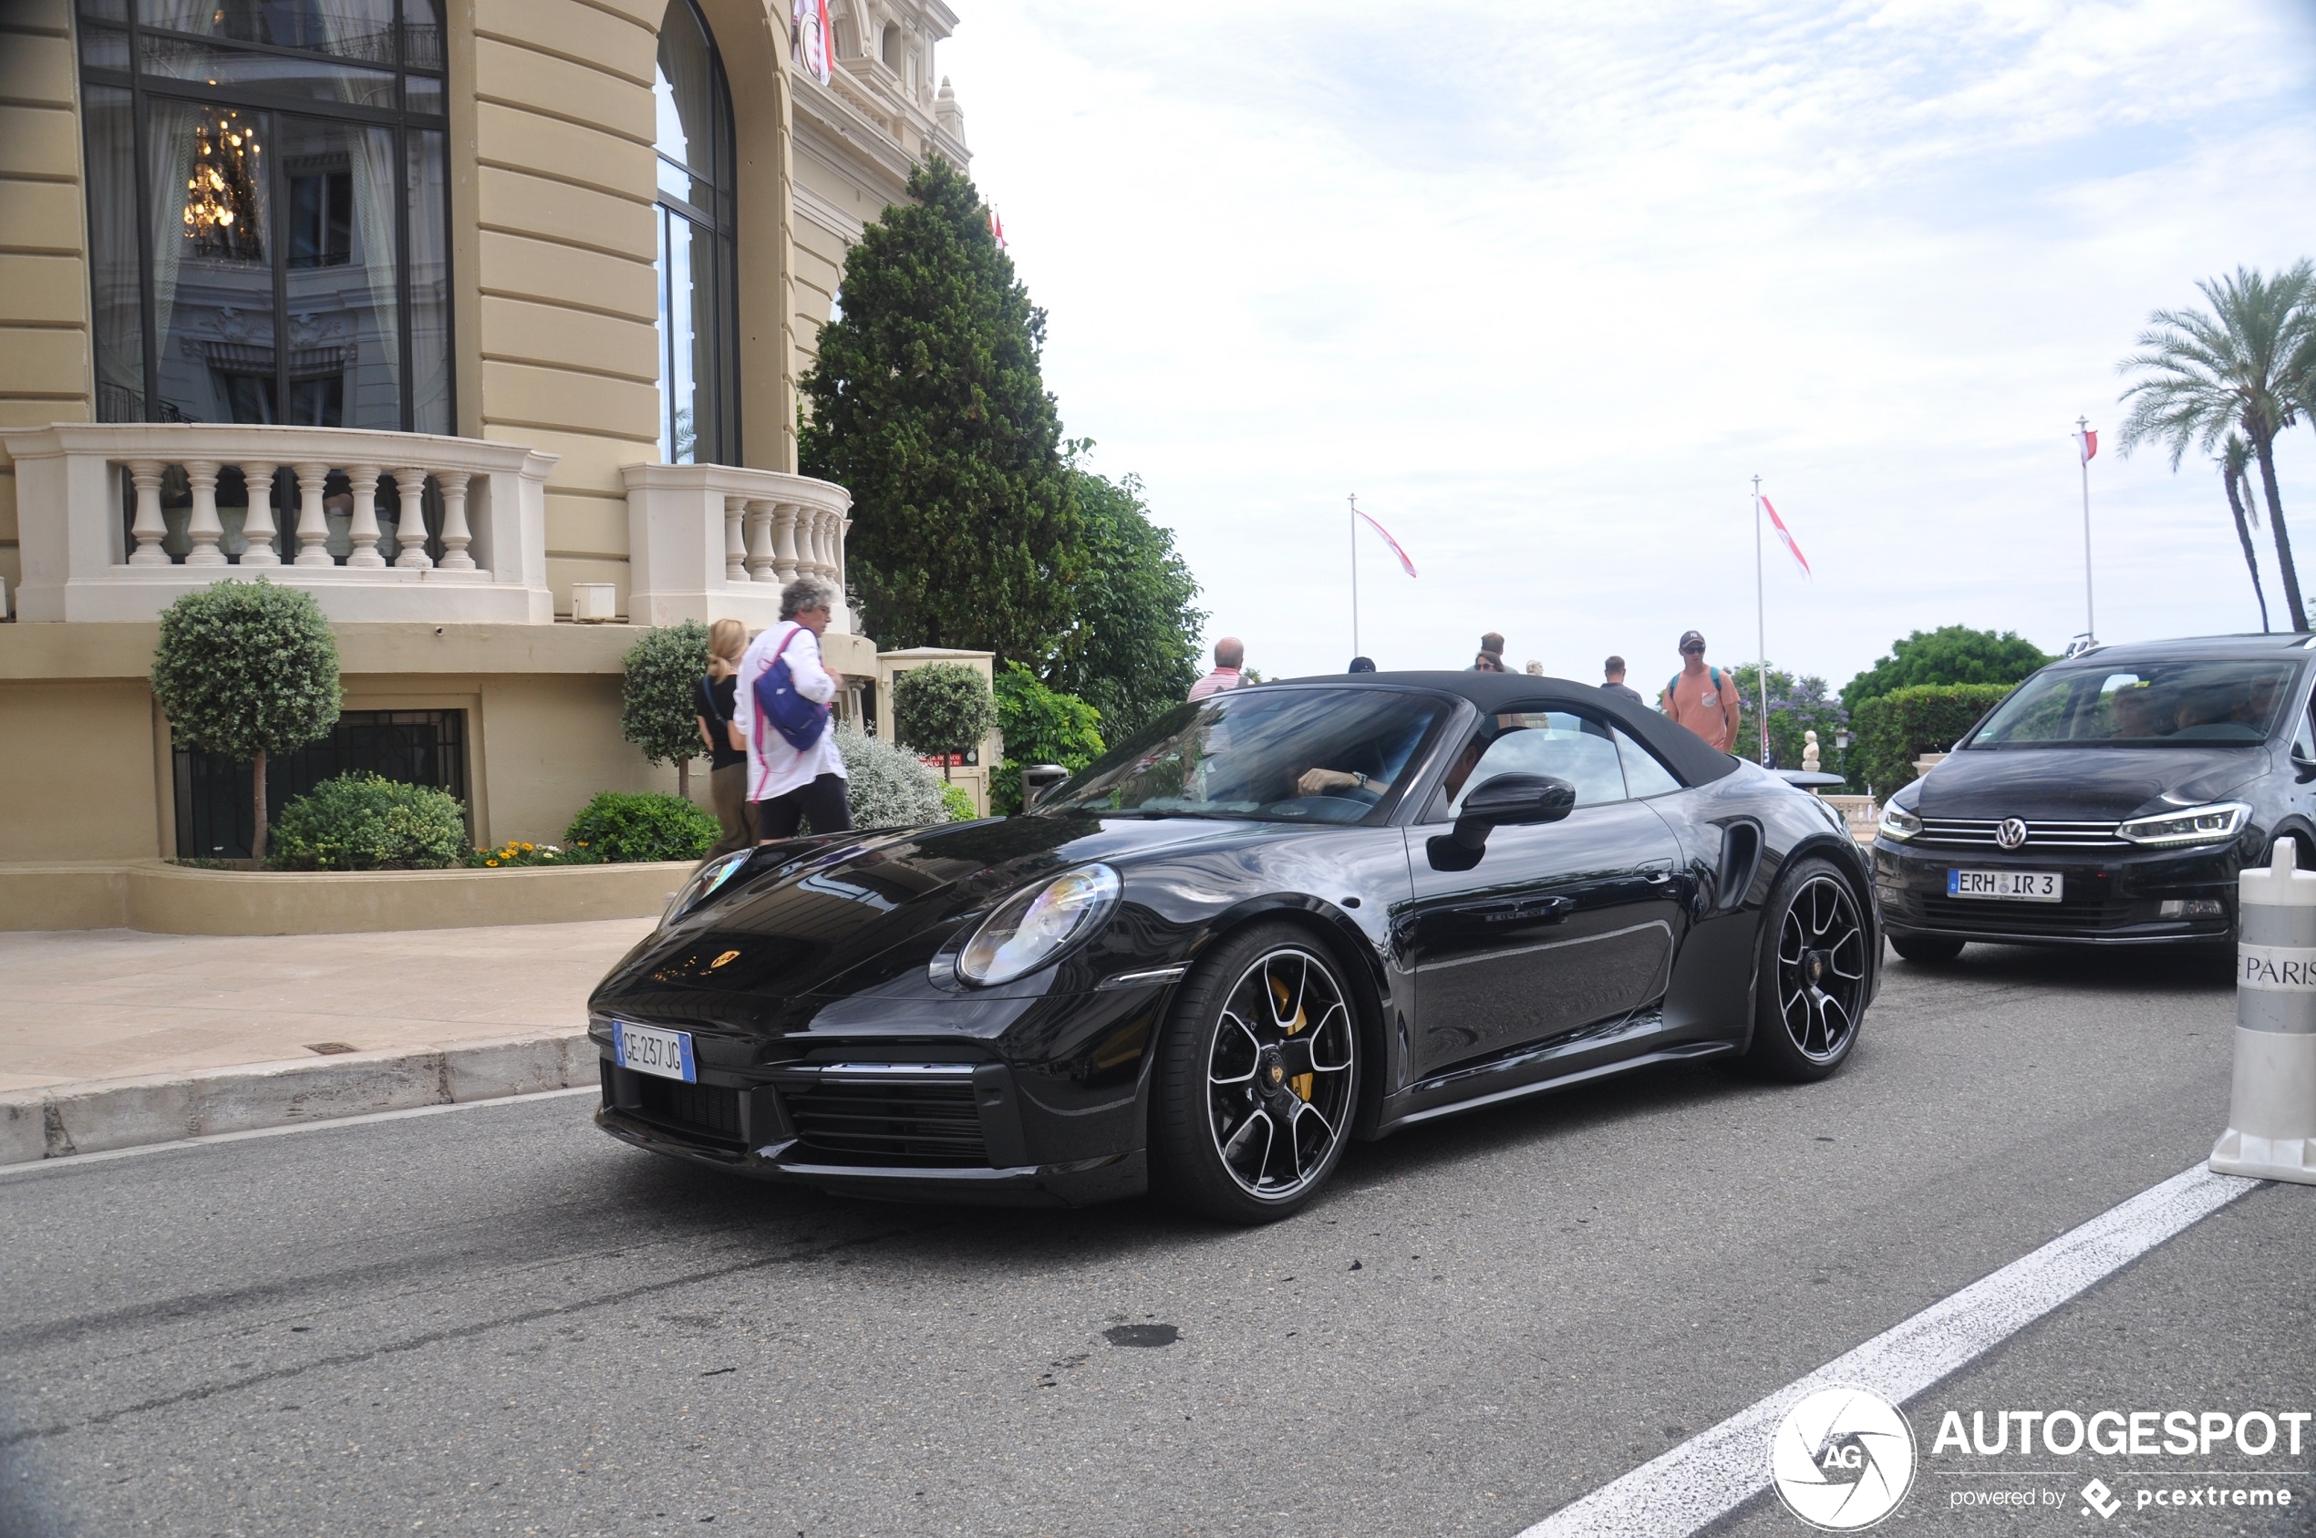
[[[1827,1084],[1417,1128],[1255,1232],[762,1188],[584,1098],[30,1170],[0,1533],[1515,1533],[2203,1158],[2230,1021],[2226,961],[1892,961]],[[2311,1232],[2260,1188],[1925,1394],[1892,1522],[2316,1531],[2316,1427],[2226,1524],[1929,1457],[1945,1408],[2316,1408]]]

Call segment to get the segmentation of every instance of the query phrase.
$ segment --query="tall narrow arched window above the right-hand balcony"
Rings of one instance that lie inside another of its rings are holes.
[[[739,463],[732,93],[692,0],[660,23],[660,459]]]

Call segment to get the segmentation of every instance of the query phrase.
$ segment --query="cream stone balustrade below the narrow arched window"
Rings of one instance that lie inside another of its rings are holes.
[[[762,630],[780,614],[780,588],[813,574],[838,593],[829,628],[852,630],[843,600],[850,491],[739,466],[623,466],[621,475],[630,623],[736,618]]]

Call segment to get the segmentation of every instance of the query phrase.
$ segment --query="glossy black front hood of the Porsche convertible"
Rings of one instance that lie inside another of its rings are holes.
[[[1274,825],[1026,815],[767,845],[704,908],[644,938],[595,989],[600,1008],[674,996],[852,994],[919,971],[968,920],[1068,866],[1133,866]]]

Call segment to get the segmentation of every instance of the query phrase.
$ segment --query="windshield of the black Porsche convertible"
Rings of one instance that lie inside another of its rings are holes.
[[[1357,822],[1445,716],[1399,690],[1237,688],[1153,720],[1038,811]]]

